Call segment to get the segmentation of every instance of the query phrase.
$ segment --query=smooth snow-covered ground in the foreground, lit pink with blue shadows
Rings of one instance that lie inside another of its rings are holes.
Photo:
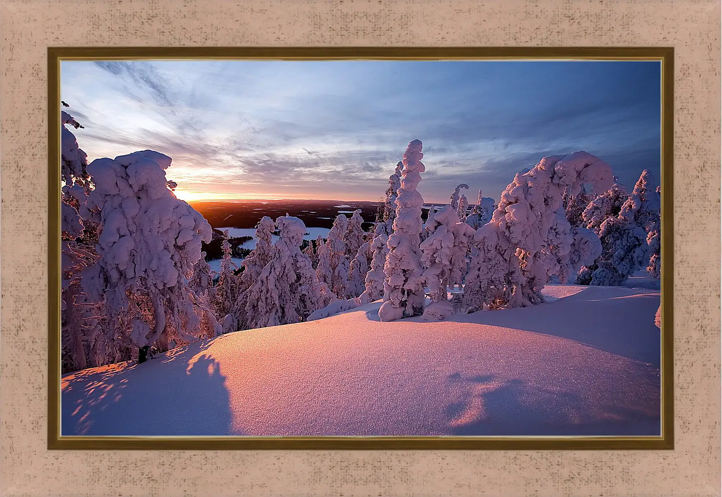
[[[659,294],[551,288],[569,296],[443,322],[374,302],[71,373],[62,434],[658,436]]]

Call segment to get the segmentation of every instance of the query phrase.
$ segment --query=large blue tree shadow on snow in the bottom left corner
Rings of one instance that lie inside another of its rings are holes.
[[[197,350],[201,347],[193,344],[187,353],[169,351],[167,360],[159,357],[69,375],[72,379],[64,379],[61,394],[61,434],[230,434],[225,376],[212,356]]]

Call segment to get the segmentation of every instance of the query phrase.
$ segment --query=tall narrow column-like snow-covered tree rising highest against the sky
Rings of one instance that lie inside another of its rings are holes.
[[[383,304],[378,309],[382,321],[419,315],[424,307],[424,277],[421,266],[421,208],[424,199],[417,191],[421,172],[422,143],[414,140],[404,152],[401,187],[396,197],[396,218],[393,233],[388,237],[388,255],[383,271]]]

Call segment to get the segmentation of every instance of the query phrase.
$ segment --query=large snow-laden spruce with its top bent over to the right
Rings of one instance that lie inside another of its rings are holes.
[[[516,175],[492,220],[474,235],[464,295],[467,306],[526,307],[544,302],[544,283],[560,276],[559,262],[573,247],[569,223],[558,215],[562,194],[568,189],[576,195],[584,183],[591,183],[596,192],[612,184],[609,164],[585,151],[544,157],[529,172]]]

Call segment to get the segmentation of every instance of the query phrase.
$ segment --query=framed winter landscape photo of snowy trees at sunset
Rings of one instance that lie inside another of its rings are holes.
[[[61,436],[661,435],[659,61],[60,79]]]

